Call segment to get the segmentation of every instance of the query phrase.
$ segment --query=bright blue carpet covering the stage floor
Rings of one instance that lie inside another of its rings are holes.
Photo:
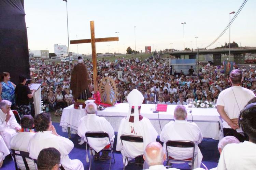
[[[56,128],[56,131],[59,135],[68,137],[68,134],[65,132],[62,132],[61,127],[59,126],[59,123],[54,123],[54,127]],[[115,149],[115,143],[116,143],[116,137],[117,133],[115,133],[115,141],[114,141],[114,149]],[[78,135],[71,135],[71,140],[74,143],[74,149],[69,154],[69,157],[71,159],[79,159],[84,164],[84,169],[89,169],[89,163],[86,163],[86,152],[85,152],[85,143],[83,145],[79,145],[78,143]],[[158,138],[159,141],[159,138]],[[217,166],[217,160],[219,159],[219,153],[217,149],[218,140],[213,140],[210,138],[204,138],[203,141],[199,144],[199,148],[203,154],[203,164],[205,164],[208,169],[214,168]],[[111,169],[123,169],[123,161],[122,161],[122,155],[120,152],[116,152],[114,150],[114,155],[116,159],[116,163],[111,165]],[[189,169],[187,164],[173,164],[175,168],[179,169]],[[202,166],[201,166],[202,167]],[[203,168],[203,167],[202,167]],[[2,168],[3,170],[15,170],[14,162],[11,159],[11,156],[8,156],[5,158]],[[96,161],[92,163],[92,168],[95,170],[106,170],[109,169],[109,161],[106,162],[100,162]],[[138,167],[137,165],[130,164],[127,168],[127,170],[140,170],[142,167]]]

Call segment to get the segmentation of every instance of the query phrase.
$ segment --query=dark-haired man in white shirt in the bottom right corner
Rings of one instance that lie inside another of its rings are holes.
[[[256,98],[255,98],[256,99]],[[249,141],[225,146],[217,170],[256,169],[256,103],[248,104],[240,114],[240,124]]]

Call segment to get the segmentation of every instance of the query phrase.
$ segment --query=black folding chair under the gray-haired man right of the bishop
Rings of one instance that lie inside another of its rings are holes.
[[[175,159],[171,156],[168,156],[168,147],[176,148],[193,148],[193,157],[188,159]],[[191,162],[191,169],[194,169],[194,159],[195,159],[195,143],[192,141],[183,141],[183,140],[168,140],[166,142],[166,153],[167,153],[167,164],[169,166],[170,160],[176,160],[179,162]]]

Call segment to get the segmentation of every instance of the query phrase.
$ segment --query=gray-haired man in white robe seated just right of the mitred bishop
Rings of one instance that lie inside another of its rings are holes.
[[[203,155],[198,147],[203,137],[196,123],[187,122],[187,110],[184,105],[177,105],[174,109],[174,120],[167,123],[160,134],[160,140],[164,142],[163,148],[166,151],[168,140],[187,140],[195,143],[194,168],[199,168]],[[168,156],[174,159],[188,159],[193,157],[193,148],[168,147]]]

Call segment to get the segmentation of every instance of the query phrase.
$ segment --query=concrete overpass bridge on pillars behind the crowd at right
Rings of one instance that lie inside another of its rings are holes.
[[[221,55],[222,54],[229,54],[229,48],[224,49],[199,49],[196,50],[187,50],[187,51],[171,51],[166,52],[170,55],[175,56],[176,58],[180,58],[182,55],[188,55],[189,59],[196,59],[197,53],[200,54],[212,54],[213,55],[213,62],[216,64],[221,63]],[[256,53],[256,48],[231,48],[230,54],[234,55],[234,62],[243,64],[244,63],[244,56],[246,53]]]

